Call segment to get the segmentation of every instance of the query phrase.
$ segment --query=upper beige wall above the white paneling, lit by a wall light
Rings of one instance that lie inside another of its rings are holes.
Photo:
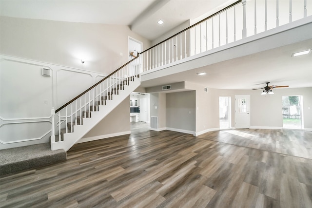
[[[107,74],[128,61],[129,36],[151,45],[128,26],[0,18],[0,54]]]

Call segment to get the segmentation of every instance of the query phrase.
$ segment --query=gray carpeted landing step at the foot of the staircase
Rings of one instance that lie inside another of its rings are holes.
[[[0,175],[66,160],[66,151],[52,151],[49,143],[0,150]]]

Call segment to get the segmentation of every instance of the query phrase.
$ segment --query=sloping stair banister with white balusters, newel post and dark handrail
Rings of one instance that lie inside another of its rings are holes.
[[[90,117],[90,111],[98,111],[99,105],[105,105],[106,100],[111,100],[112,96],[117,94],[118,89],[129,85],[129,81],[138,75],[139,58],[137,56],[57,110],[52,108],[51,142],[56,142],[56,135],[59,135],[58,141],[61,140],[63,128],[65,128],[65,133],[73,132],[74,125],[82,124],[82,118]],[[62,125],[63,122],[65,125]]]

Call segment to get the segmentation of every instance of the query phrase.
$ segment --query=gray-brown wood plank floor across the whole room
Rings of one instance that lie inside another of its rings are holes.
[[[312,208],[312,132],[134,128],[67,153],[2,176],[0,207]]]

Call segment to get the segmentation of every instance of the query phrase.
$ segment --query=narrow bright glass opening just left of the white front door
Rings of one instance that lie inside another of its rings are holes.
[[[219,97],[219,128],[231,128],[231,97]]]

